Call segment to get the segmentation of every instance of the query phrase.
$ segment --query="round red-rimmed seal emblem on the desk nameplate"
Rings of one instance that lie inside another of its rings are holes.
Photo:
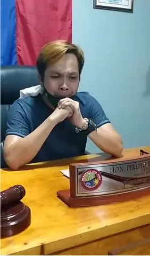
[[[81,175],[81,186],[86,190],[96,190],[101,186],[102,174],[95,169],[89,169]]]

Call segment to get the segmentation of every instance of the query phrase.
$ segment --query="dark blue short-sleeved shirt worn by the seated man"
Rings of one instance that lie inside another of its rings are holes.
[[[97,124],[110,123],[101,105],[87,92],[76,95],[83,118],[91,118]],[[41,95],[16,100],[10,108],[7,119],[6,135],[26,137],[33,132],[45,119],[53,113],[43,101]],[[87,136],[76,132],[76,127],[69,119],[57,124],[47,137],[38,154],[31,161],[53,161],[85,154]]]

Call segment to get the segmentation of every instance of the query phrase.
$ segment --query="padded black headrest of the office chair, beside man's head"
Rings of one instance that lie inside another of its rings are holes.
[[[40,84],[38,71],[32,66],[1,67],[1,105],[12,104],[20,90]]]

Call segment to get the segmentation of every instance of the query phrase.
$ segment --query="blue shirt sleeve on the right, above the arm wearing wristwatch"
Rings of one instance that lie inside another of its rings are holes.
[[[89,112],[88,112],[89,118],[93,119],[94,123],[97,124],[97,127],[100,127],[106,123],[110,123],[101,105],[91,95],[89,95],[88,104],[89,104]]]

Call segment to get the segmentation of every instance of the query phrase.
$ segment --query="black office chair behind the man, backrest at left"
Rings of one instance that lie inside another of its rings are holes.
[[[39,83],[36,67],[1,67],[1,168],[7,167],[3,157],[3,145],[9,109],[12,103],[20,97],[20,90]]]

